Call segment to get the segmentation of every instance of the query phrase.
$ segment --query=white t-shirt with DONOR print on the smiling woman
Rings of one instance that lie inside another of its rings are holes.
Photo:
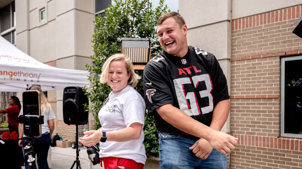
[[[129,127],[132,123],[145,123],[145,102],[140,94],[131,86],[118,93],[111,93],[98,113],[102,131],[117,131]],[[145,164],[146,151],[143,145],[143,127],[138,140],[125,142],[100,142],[101,157],[118,157],[132,159]]]

